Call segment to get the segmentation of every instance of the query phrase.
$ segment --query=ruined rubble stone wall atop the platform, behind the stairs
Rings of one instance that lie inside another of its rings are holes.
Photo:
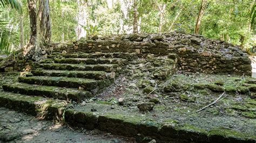
[[[251,75],[251,60],[238,46],[200,35],[182,33],[97,36],[55,45],[53,52],[136,52],[177,54],[179,70],[200,73]]]

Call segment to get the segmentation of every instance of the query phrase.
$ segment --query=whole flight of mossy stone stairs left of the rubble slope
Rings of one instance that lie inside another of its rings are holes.
[[[136,55],[52,53],[33,67],[31,74],[2,86],[0,106],[59,121],[68,103],[81,102],[102,92]]]

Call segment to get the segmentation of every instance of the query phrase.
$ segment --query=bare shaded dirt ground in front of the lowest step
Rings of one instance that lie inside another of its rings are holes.
[[[99,130],[83,130],[52,121],[38,120],[6,108],[0,108],[0,142],[133,142],[131,138]]]

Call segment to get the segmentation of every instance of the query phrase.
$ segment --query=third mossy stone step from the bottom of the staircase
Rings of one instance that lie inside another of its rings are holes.
[[[86,78],[73,77],[53,77],[53,76],[31,76],[18,77],[19,82],[37,85],[47,85],[65,88],[78,88],[88,90],[96,94],[99,90],[111,84],[111,80],[92,80]]]

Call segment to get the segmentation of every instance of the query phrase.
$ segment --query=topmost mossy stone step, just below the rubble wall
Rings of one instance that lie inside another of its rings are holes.
[[[122,58],[127,60],[132,60],[136,58],[137,53],[123,53],[123,52],[114,52],[114,53],[72,53],[72,54],[62,54],[59,52],[53,52],[51,55],[48,55],[48,58],[64,57],[64,58]]]

